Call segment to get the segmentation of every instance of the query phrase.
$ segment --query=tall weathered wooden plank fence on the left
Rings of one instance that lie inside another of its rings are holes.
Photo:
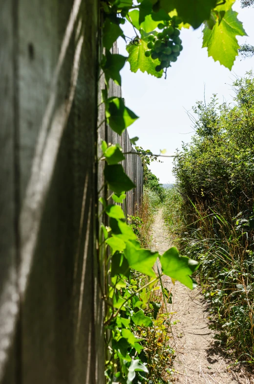
[[[0,383],[101,384],[96,239],[98,190],[106,191],[97,144],[133,150],[97,108],[100,4],[0,5]],[[113,84],[110,92],[121,95]],[[134,214],[140,158],[127,155],[123,165],[137,184],[127,193]]]

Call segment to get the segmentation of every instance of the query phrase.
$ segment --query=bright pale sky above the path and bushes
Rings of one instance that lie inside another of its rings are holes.
[[[239,44],[245,42],[254,45],[254,8],[240,7],[237,0],[233,6],[238,19],[243,23],[249,37],[238,37]],[[134,36],[132,27],[126,27],[125,33]],[[168,68],[167,80],[157,79],[140,70],[133,73],[127,63],[121,71],[122,91],[126,106],[140,118],[128,128],[129,136],[138,136],[137,145],[159,154],[160,149],[167,149],[166,155],[174,154],[181,148],[182,141],[189,142],[193,135],[191,121],[186,113],[197,100],[206,101],[217,93],[220,102],[230,102],[233,98],[231,88],[235,76],[244,76],[246,71],[254,68],[254,57],[237,58],[232,71],[214,63],[208,57],[207,49],[202,47],[201,29],[193,31],[183,29],[180,38],[183,50],[176,63]],[[118,41],[119,53],[126,55],[125,43]],[[192,131],[192,132],[191,132]],[[172,175],[172,158],[161,158],[164,162],[153,162],[151,171],[161,183],[174,182]]]

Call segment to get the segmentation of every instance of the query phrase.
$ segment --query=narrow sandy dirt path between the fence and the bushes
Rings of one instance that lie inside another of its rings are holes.
[[[171,241],[164,226],[162,211],[152,226],[154,248],[162,254]],[[200,288],[191,291],[178,281],[173,286],[164,276],[164,285],[172,289],[173,304],[169,311],[176,312],[173,325],[172,347],[177,351],[174,362],[174,381],[179,384],[247,384],[251,383],[242,373],[235,373],[227,366],[230,361],[214,345],[214,331],[209,329],[208,304]]]

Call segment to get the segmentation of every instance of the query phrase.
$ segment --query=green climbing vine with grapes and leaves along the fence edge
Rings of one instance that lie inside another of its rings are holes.
[[[120,70],[128,61],[130,70],[138,69],[160,78],[174,65],[184,45],[182,28],[203,25],[203,47],[215,61],[231,69],[239,45],[236,35],[243,36],[242,23],[232,10],[233,0],[102,0],[103,45],[101,68],[106,88],[102,102],[106,122],[118,135],[133,124],[138,116],[127,108],[120,97],[107,97],[109,80],[121,85]],[[121,26],[130,23],[133,37],[127,37]],[[112,54],[119,38],[127,43],[128,56]],[[137,137],[131,139],[133,145]],[[171,327],[167,304],[171,293],[163,287],[161,276],[168,275],[190,289],[195,281],[192,273],[198,263],[181,256],[175,247],[163,255],[141,248],[135,228],[128,226],[121,205],[126,191],[135,187],[120,162],[125,159],[119,144],[101,143],[104,176],[115,204],[100,197],[107,223],[101,224],[100,255],[108,271],[105,273],[106,378],[108,383],[165,383],[170,353],[168,332]],[[137,147],[137,153],[152,153]],[[156,158],[157,156],[155,156]],[[106,225],[107,224],[107,225]],[[134,229],[134,230],[133,230]],[[153,270],[157,264],[157,275]],[[158,292],[160,285],[161,294]],[[164,313],[160,311],[161,303]],[[160,311],[160,312],[159,312]]]

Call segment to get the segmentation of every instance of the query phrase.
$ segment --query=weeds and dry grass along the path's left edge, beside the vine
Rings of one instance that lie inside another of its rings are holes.
[[[158,193],[147,187],[144,188],[142,205],[136,216],[129,216],[128,222],[137,234],[143,248],[148,248],[152,243],[151,225],[161,199]],[[131,273],[130,293],[139,291],[140,287],[149,281],[148,276],[133,271]],[[164,297],[166,300],[164,300]],[[148,367],[147,384],[168,384],[172,374],[172,361],[175,351],[170,346],[170,319],[167,314],[167,303],[171,300],[171,294],[160,284],[151,284],[146,289],[132,297],[132,309],[137,312],[143,309],[146,315],[151,316],[153,324],[150,327],[136,327],[137,337],[142,341],[143,350],[139,358]],[[165,305],[166,304],[166,305]]]

